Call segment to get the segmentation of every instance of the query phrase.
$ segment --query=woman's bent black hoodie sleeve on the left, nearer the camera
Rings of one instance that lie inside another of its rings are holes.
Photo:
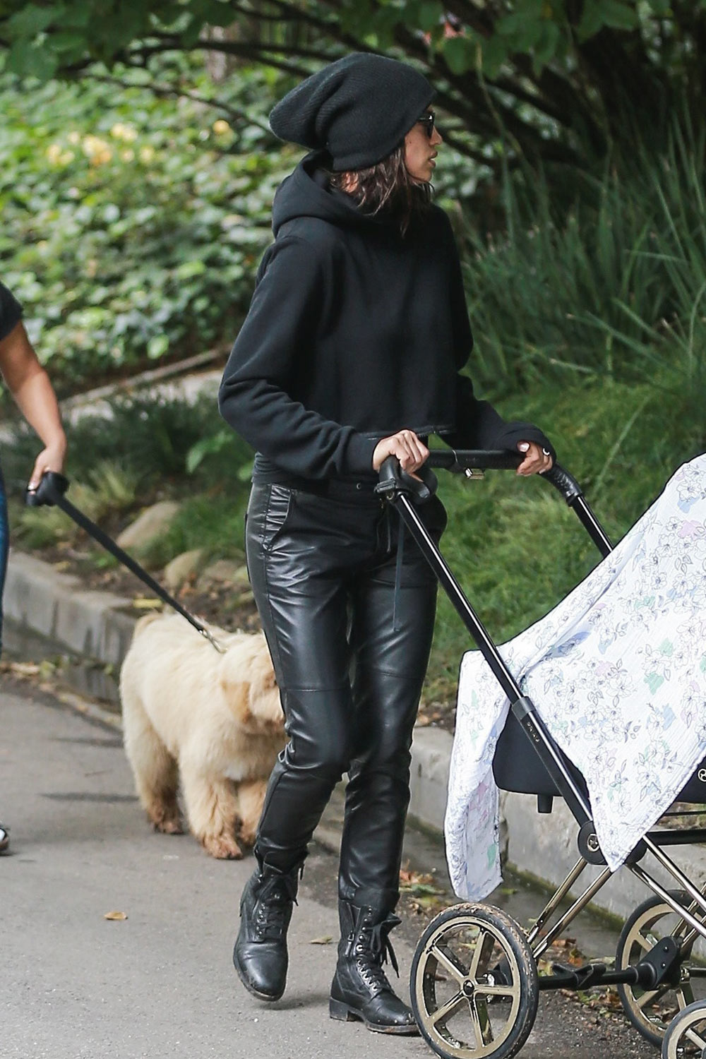
[[[301,239],[283,239],[266,253],[258,274],[223,372],[221,415],[283,470],[313,479],[370,471],[375,441],[289,396],[321,312],[324,279],[316,254]]]

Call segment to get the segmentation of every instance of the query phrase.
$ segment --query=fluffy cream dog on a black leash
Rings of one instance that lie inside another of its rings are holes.
[[[285,744],[261,633],[212,628],[215,650],[179,614],[141,618],[123,662],[124,741],[140,801],[159,831],[192,832],[213,857],[255,841],[267,779]]]

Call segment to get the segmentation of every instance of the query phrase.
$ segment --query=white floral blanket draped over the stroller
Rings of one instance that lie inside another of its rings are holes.
[[[613,870],[706,755],[706,454],[574,591],[501,648],[585,777]],[[464,656],[445,822],[456,894],[502,880],[492,759],[509,703],[479,651]]]

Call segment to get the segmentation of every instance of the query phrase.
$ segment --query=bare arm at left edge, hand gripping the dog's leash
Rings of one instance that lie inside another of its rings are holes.
[[[44,444],[29,483],[30,489],[36,489],[44,471],[64,469],[67,439],[49,375],[39,363],[22,323],[16,324],[0,341],[0,374],[20,412]]]

